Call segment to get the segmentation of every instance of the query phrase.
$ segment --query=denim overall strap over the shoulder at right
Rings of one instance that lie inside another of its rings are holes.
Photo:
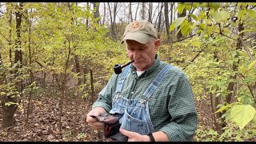
[[[154,93],[154,90],[157,89],[158,85],[162,82],[162,79],[165,77],[167,72],[170,70],[171,66],[168,64],[166,65],[158,74],[154,81],[150,84],[150,86],[146,89],[145,93],[143,94],[146,98],[150,98],[150,96]]]

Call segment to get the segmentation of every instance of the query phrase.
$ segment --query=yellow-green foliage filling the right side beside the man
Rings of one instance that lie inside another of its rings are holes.
[[[189,4],[179,3],[178,12],[186,9],[186,5]],[[254,2],[193,2],[194,8],[200,9],[198,13],[176,19],[170,26],[170,31],[180,26],[184,36],[191,35],[192,30],[195,31],[194,34],[200,34],[199,38],[174,43],[171,46],[173,50],[168,52],[171,58],[182,61],[173,62],[186,68],[185,72],[190,78],[195,99],[202,101],[211,95],[222,100],[216,107],[218,110],[215,114],[222,112],[222,119],[228,126],[221,137],[212,131],[198,130],[198,134],[206,138],[206,141],[226,141],[228,138],[231,141],[242,141],[246,138],[243,132],[248,130],[245,130],[245,127],[250,126],[255,119],[256,93],[253,90],[256,86],[255,60],[252,61],[249,57],[245,45],[239,48],[237,46],[238,34],[243,34],[242,41],[250,43],[247,49],[255,57],[255,39],[250,38],[254,35],[256,26],[254,21],[256,12],[252,9],[255,5]],[[235,9],[231,8],[232,6]],[[189,17],[193,18],[191,22],[187,20]],[[237,21],[234,21],[235,17],[238,18]],[[237,30],[238,25],[242,25],[245,29],[235,33],[234,30]],[[198,56],[195,57],[197,54]],[[235,89],[228,90],[228,86],[232,83],[235,84]],[[230,95],[233,96],[234,102],[226,103],[225,100]],[[251,133],[255,133],[255,130],[250,129],[250,136]],[[200,141],[200,138],[197,140]]]

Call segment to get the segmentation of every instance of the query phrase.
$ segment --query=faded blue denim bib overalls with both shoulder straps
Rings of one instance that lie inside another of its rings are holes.
[[[166,73],[170,70],[171,66],[168,64],[161,70],[158,76],[154,78],[154,81],[146,89],[142,99],[127,99],[122,97],[120,93],[122,90],[122,84],[126,80],[126,76],[130,71],[130,65],[126,66],[118,79],[110,114],[118,115],[119,123],[122,124],[120,128],[146,135],[154,132],[154,126],[150,119],[148,100],[154,93],[154,90],[162,82],[162,78],[164,78]]]

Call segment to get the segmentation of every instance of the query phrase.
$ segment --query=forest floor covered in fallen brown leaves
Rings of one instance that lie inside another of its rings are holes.
[[[18,109],[15,126],[2,128],[0,107],[0,142],[102,142],[106,141],[102,131],[92,130],[86,123],[86,114],[91,102],[82,98],[66,98],[62,112],[62,128],[58,126],[60,98],[50,96],[33,100],[28,125],[24,124],[24,110]],[[207,101],[206,101],[207,102]],[[213,125],[210,104],[197,103],[199,123],[204,128]],[[208,101],[209,102],[209,101]],[[207,108],[207,109],[206,109]]]

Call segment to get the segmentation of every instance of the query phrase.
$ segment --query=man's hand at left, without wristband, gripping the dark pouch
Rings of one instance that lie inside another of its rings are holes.
[[[106,110],[102,107],[95,107],[93,110],[90,110],[90,112],[86,115],[86,122],[88,122],[88,125],[94,129],[94,130],[103,130],[104,129],[104,123],[99,122],[97,118],[93,118],[90,115],[98,116],[106,113]]]

